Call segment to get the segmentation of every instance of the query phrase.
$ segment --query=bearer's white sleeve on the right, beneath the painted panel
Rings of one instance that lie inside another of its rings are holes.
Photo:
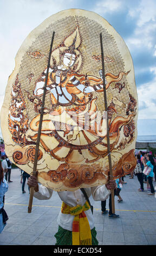
[[[107,190],[105,185],[91,187],[91,191],[95,201],[105,201],[111,194],[111,191]]]

